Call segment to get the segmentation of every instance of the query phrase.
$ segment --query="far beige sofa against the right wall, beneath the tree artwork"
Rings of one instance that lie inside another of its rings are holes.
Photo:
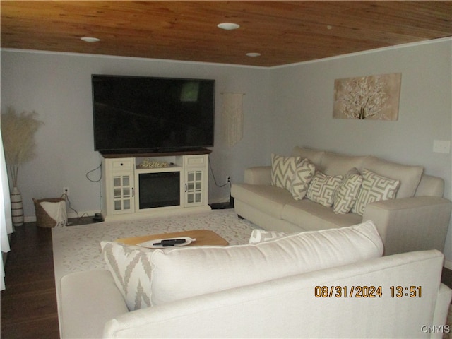
[[[324,230],[372,220],[383,239],[385,255],[444,250],[451,201],[443,198],[443,179],[424,174],[420,166],[400,165],[374,156],[348,156],[295,147],[291,157],[308,159],[316,172],[328,177],[345,177],[355,168],[361,173],[367,170],[383,179],[396,180],[396,195],[367,203],[361,214],[353,209],[349,213],[335,213],[334,205],[324,206],[307,197],[296,200],[290,189],[275,185],[272,166],[251,167],[245,170],[244,183],[232,184],[231,195],[239,216],[265,230],[283,232]],[[314,178],[309,184],[312,182]]]

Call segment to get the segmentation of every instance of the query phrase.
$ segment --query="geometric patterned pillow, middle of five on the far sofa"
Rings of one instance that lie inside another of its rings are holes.
[[[342,179],[342,175],[328,176],[317,172],[309,184],[307,198],[326,207],[333,206],[333,197]]]

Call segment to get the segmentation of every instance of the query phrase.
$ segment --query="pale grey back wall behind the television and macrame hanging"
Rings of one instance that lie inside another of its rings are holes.
[[[85,177],[100,165],[93,147],[93,73],[215,79],[215,146],[211,148],[210,163],[218,184],[224,184],[227,175],[241,181],[244,165],[266,153],[268,69],[3,50],[1,109],[12,105],[18,112],[35,110],[44,121],[36,135],[37,157],[19,172],[26,220],[35,214],[32,198],[58,197],[65,186],[69,187],[74,209],[90,213],[100,210],[100,185]],[[221,138],[221,93],[226,92],[245,93],[244,139],[233,148]],[[262,147],[255,149],[254,143]],[[99,174],[97,170],[90,178],[97,179]],[[213,182],[210,177],[209,201],[228,201],[229,186],[220,189]]]

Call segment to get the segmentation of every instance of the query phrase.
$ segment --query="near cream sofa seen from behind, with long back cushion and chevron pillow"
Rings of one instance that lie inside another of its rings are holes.
[[[371,222],[266,237],[154,251],[103,242],[109,270],[61,279],[61,338],[441,338],[446,331],[452,290],[441,284],[439,251],[382,257]]]

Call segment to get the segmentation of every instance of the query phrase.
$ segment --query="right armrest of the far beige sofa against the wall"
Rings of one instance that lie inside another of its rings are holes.
[[[415,196],[376,201],[364,208],[362,221],[372,220],[384,244],[384,255],[444,250],[451,201],[439,196]]]

